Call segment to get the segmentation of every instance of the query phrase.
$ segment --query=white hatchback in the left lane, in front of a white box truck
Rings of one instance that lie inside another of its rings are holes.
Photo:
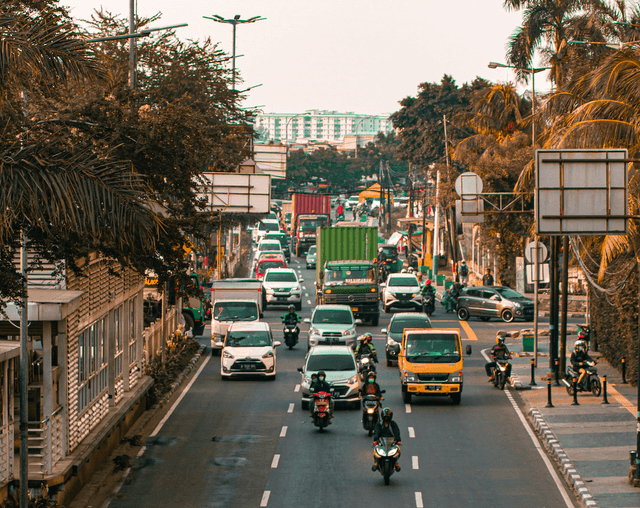
[[[263,321],[235,322],[229,326],[222,349],[222,379],[234,376],[276,378],[276,347],[271,328]]]

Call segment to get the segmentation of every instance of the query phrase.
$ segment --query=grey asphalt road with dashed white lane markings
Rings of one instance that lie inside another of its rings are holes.
[[[300,258],[292,258],[291,266],[305,280],[308,296],[301,316],[310,317],[314,273]],[[277,340],[282,340],[285,311],[270,307],[265,312]],[[389,486],[371,471],[371,439],[362,429],[360,411],[336,408],[333,425],[320,434],[301,409],[296,369],[307,351],[308,325],[303,325],[296,348],[278,348],[274,382],[222,382],[220,357],[207,357],[175,411],[147,440],[111,506],[573,506],[563,499],[508,396],[487,384],[481,350],[494,344],[495,332],[505,324],[469,321],[462,328],[439,305],[432,317],[434,327],[461,328],[465,345],[472,345],[462,403],[414,398],[407,407],[397,367],[379,364],[378,379],[387,390],[383,405],[393,409],[404,444],[402,471]],[[389,318],[382,314],[378,327],[358,330],[373,334],[381,359],[380,329]]]

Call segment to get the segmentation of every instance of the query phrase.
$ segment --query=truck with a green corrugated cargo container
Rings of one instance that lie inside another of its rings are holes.
[[[357,319],[378,326],[378,230],[325,227],[317,236],[316,304],[349,305]]]

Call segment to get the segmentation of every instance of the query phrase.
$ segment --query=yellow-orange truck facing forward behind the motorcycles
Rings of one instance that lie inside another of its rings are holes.
[[[471,354],[471,346],[466,353]],[[448,395],[454,404],[460,404],[462,367],[462,341],[457,328],[404,330],[398,368],[405,404],[411,404],[413,395]]]

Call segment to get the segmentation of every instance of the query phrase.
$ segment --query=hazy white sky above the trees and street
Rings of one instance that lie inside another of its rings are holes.
[[[265,21],[237,28],[236,65],[247,106],[265,112],[307,109],[392,113],[419,83],[443,74],[458,84],[480,76],[513,80],[504,62],[521,12],[503,0],[136,0],[138,14],[162,13],[155,26],[189,23],[183,39],[211,37],[231,53],[232,27],[204,19],[219,14]],[[61,0],[76,19],[104,8],[128,16],[129,0]],[[537,86],[546,88],[544,75]],[[239,87],[240,88],[240,87]]]

